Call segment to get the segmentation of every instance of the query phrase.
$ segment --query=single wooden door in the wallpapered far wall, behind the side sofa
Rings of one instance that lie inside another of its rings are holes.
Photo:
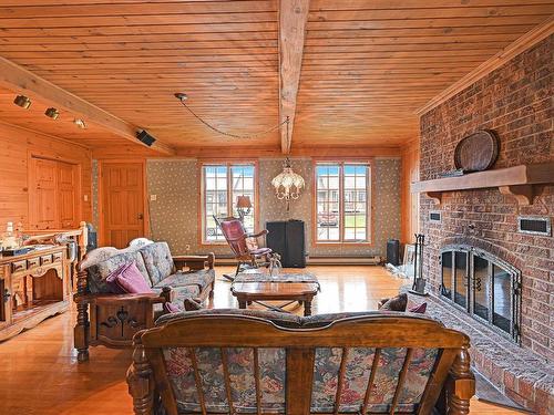
[[[102,242],[125,248],[145,235],[144,165],[142,163],[103,163]]]

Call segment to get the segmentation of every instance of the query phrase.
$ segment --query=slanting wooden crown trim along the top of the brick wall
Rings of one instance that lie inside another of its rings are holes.
[[[522,35],[515,42],[509,44],[506,48],[496,53],[494,56],[486,60],[481,65],[475,68],[473,71],[468,73],[460,81],[453,83],[448,89],[442,91],[439,95],[434,96],[425,105],[416,111],[416,114],[421,116],[427,112],[431,111],[432,108],[439,106],[440,104],[448,101],[459,92],[463,91],[468,86],[479,81],[481,77],[499,69],[500,66],[512,60],[514,56],[532,48],[533,45],[546,39],[553,33],[554,33],[554,15],[551,15],[548,19],[546,19],[545,22],[543,22],[542,24],[537,25],[530,32]]]

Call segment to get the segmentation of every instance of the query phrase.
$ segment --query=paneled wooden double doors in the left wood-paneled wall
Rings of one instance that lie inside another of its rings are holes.
[[[31,157],[29,175],[31,228],[76,228],[79,226],[79,166]]]

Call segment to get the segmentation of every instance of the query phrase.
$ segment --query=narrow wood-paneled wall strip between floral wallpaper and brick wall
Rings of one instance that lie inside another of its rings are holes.
[[[402,151],[402,234],[401,242],[411,243],[419,231],[419,195],[410,191],[410,184],[419,180],[419,139],[413,139]]]

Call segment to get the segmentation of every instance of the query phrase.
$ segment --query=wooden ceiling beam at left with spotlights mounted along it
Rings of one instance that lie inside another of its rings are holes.
[[[138,127],[115,115],[91,104],[64,89],[33,74],[16,63],[0,56],[0,85],[17,93],[37,97],[52,103],[59,110],[65,110],[82,117],[86,122],[101,125],[130,142],[147,147],[136,138]],[[174,155],[175,149],[164,143],[155,142],[152,147],[156,152]]]

